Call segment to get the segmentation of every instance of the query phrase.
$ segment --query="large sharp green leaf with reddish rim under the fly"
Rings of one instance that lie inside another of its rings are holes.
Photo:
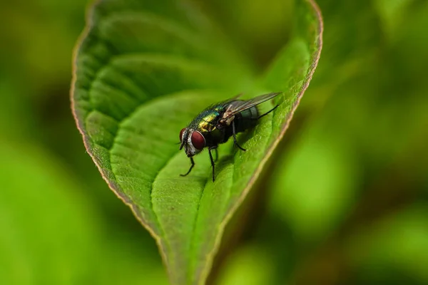
[[[171,283],[203,284],[225,224],[310,83],[322,46],[320,11],[312,0],[297,1],[292,38],[265,72],[249,68],[193,6],[113,0],[91,11],[72,90],[88,153],[158,242]],[[279,90],[275,112],[238,138],[247,152],[220,147],[215,182],[206,152],[180,177],[190,162],[178,134],[200,110],[237,93]]]

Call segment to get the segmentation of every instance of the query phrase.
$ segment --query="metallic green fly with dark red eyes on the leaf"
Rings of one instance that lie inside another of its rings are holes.
[[[238,145],[236,134],[254,128],[260,118],[275,110],[278,105],[263,115],[259,115],[257,105],[274,98],[278,94],[280,93],[269,93],[250,100],[238,100],[238,95],[230,100],[211,105],[197,115],[187,128],[180,131],[180,150],[184,147],[191,162],[188,172],[181,176],[186,176],[192,171],[193,166],[195,166],[193,156],[208,147],[214,181],[215,163],[211,150],[215,150],[217,160],[218,145],[233,137],[233,144],[245,151],[243,147]]]

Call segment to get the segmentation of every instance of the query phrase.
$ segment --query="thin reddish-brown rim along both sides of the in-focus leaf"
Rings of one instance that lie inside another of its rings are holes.
[[[168,277],[171,276],[169,268],[168,268],[168,258],[165,254],[165,247],[163,242],[161,241],[161,237],[156,234],[156,232],[148,225],[147,222],[143,220],[143,217],[140,214],[140,210],[138,209],[138,206],[135,204],[132,204],[131,201],[123,195],[118,190],[118,185],[116,183],[111,182],[108,180],[106,172],[103,170],[103,167],[101,167],[100,163],[95,157],[95,154],[91,151],[91,142],[88,138],[88,134],[85,131],[84,128],[84,120],[80,120],[78,118],[78,110],[75,108],[76,102],[74,100],[74,93],[76,92],[75,86],[76,86],[76,79],[77,79],[77,56],[78,52],[80,51],[80,48],[82,46],[82,43],[86,36],[88,36],[88,33],[91,31],[91,28],[93,28],[93,13],[94,9],[98,4],[101,3],[102,0],[93,0],[92,3],[88,4],[86,8],[86,25],[83,28],[83,31],[81,32],[80,36],[78,36],[78,39],[76,41],[76,45],[73,48],[73,56],[72,56],[72,78],[71,78],[71,88],[70,88],[70,98],[71,98],[71,111],[73,114],[73,118],[76,122],[76,127],[78,128],[79,133],[81,133],[83,138],[83,145],[85,146],[86,152],[88,152],[88,155],[91,157],[93,162],[95,163],[96,167],[98,168],[98,171],[101,173],[101,177],[103,177],[103,180],[106,181],[108,187],[113,191],[113,193],[122,200],[124,204],[126,204],[128,207],[131,208],[131,212],[133,212],[133,215],[136,217],[138,222],[140,222],[143,227],[151,234],[153,239],[155,239],[156,244],[158,244],[159,252],[162,257],[163,264],[165,266],[166,271],[168,271]],[[238,207],[243,203],[245,197],[247,197],[248,192],[250,192],[250,189],[253,187],[255,182],[258,180],[258,177],[260,176],[260,173],[262,172],[263,167],[265,166],[267,160],[270,159],[273,150],[275,150],[275,147],[279,144],[280,140],[282,140],[283,136],[285,135],[285,132],[290,125],[290,122],[292,120],[292,117],[295,113],[295,110],[297,109],[297,106],[300,103],[300,100],[307,90],[310,81],[312,80],[312,76],[315,73],[315,69],[317,68],[318,62],[320,60],[320,55],[322,51],[322,33],[324,31],[324,24],[322,21],[322,13],[320,10],[320,7],[317,5],[315,0],[304,0],[312,7],[312,12],[315,14],[315,19],[317,19],[317,41],[316,46],[317,49],[315,50],[315,53],[312,53],[311,55],[311,63],[310,67],[308,68],[307,76],[305,77],[302,86],[300,88],[299,93],[297,94],[297,100],[292,105],[290,113],[287,115],[287,119],[285,120],[285,123],[282,125],[282,128],[280,130],[280,134],[275,138],[275,140],[270,144],[269,147],[267,147],[267,152],[265,153],[265,156],[263,157],[263,160],[260,161],[260,164],[256,168],[255,172],[253,172],[252,177],[250,178],[248,184],[244,188],[243,192],[241,192],[240,196],[238,197],[235,204],[233,204],[233,207],[230,207],[228,209],[228,212],[225,214],[225,217],[222,222],[219,224],[219,231],[217,234],[217,237],[215,237],[214,246],[210,252],[207,254],[207,259],[205,266],[200,274],[200,279],[197,281],[198,284],[204,284],[205,280],[208,278],[208,274],[210,273],[210,269],[213,265],[213,260],[215,257],[215,254],[218,252],[218,248],[220,247],[221,238],[223,237],[223,232],[225,229],[226,224],[230,221],[230,219],[233,217],[233,214],[237,211]]]

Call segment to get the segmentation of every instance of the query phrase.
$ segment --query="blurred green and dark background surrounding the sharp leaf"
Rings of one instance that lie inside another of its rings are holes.
[[[290,0],[198,3],[260,70],[289,36]],[[210,283],[428,284],[428,1],[318,4],[320,64]],[[168,284],[71,116],[86,5],[1,5],[0,284]]]

